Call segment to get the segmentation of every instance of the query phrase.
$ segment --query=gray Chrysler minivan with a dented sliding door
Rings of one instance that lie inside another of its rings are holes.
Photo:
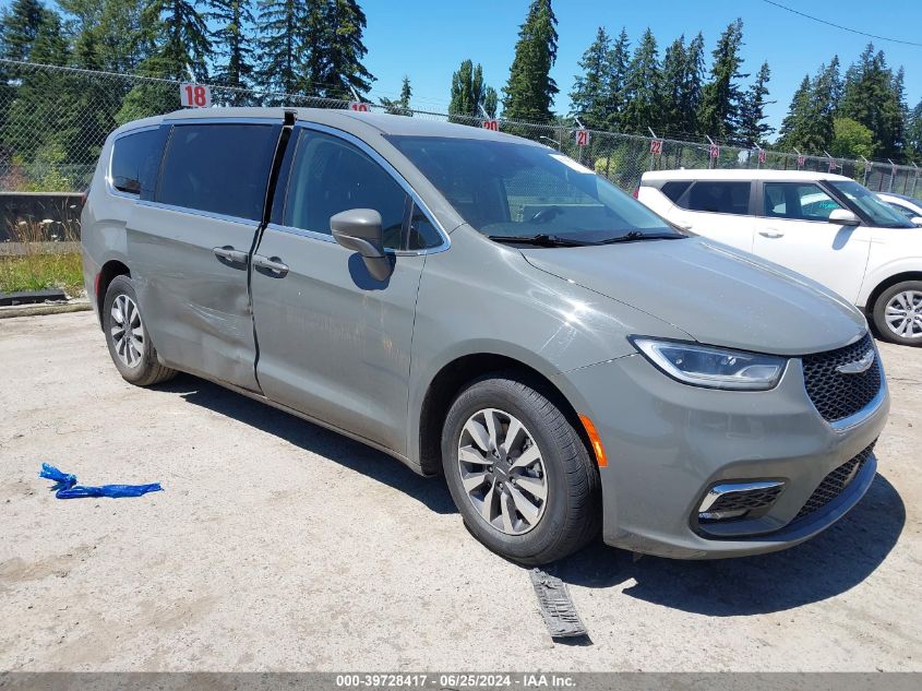
[[[523,563],[789,547],[871,485],[864,317],[686,237],[541,144],[345,110],[218,108],[106,141],[86,287],[137,385],[218,382],[444,475]]]

